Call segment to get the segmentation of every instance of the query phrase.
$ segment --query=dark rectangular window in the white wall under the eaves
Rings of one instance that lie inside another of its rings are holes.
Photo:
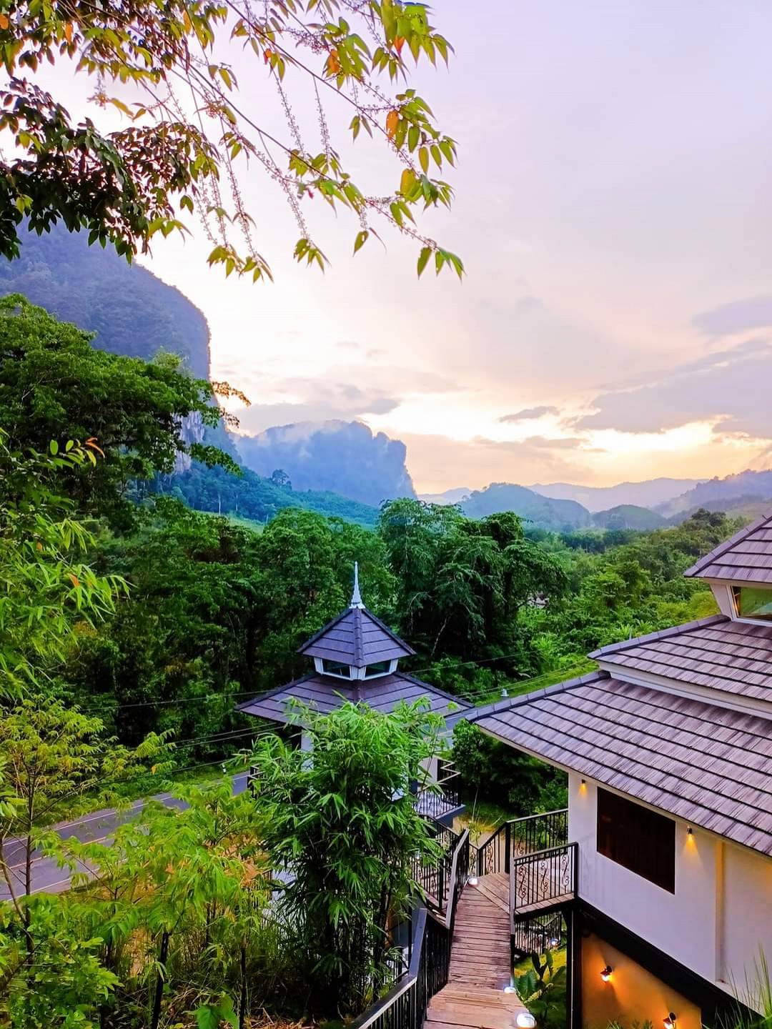
[[[598,853],[675,893],[675,822],[598,790]]]

